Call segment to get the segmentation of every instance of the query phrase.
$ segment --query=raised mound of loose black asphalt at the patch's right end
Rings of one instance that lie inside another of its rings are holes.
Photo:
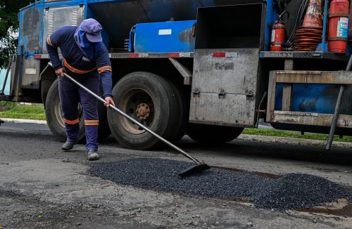
[[[256,207],[284,210],[315,207],[345,197],[352,197],[352,193],[325,178],[287,174],[263,186],[253,202]]]

